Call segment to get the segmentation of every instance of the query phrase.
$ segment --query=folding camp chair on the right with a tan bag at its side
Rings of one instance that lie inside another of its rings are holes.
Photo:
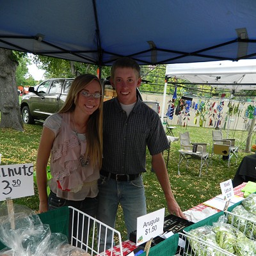
[[[212,154],[211,154],[211,157],[214,154],[219,155],[219,156],[227,156],[228,157],[228,166],[229,166],[231,157],[235,156],[236,163],[237,163],[238,147],[235,146],[235,140],[236,139],[234,139],[234,138],[223,139],[222,132],[220,130],[212,131]]]

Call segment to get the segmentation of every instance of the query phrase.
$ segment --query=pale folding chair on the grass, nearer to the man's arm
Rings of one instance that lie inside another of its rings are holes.
[[[193,149],[194,148],[194,149]],[[196,150],[195,150],[196,148]],[[208,150],[207,150],[208,148]],[[189,132],[180,134],[180,150],[179,150],[178,175],[180,175],[180,164],[186,161],[186,169],[188,170],[189,159],[200,160],[199,177],[202,174],[202,167],[206,165],[206,173],[208,171],[209,143],[191,143]]]

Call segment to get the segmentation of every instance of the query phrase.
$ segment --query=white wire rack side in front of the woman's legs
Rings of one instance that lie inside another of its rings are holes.
[[[69,209],[70,216],[72,216],[70,217],[72,218],[70,219],[72,223],[70,243],[73,246],[83,248],[92,256],[112,256],[114,255],[113,248],[118,247],[120,250],[118,255],[123,256],[120,232],[74,207],[69,207]],[[111,237],[110,244],[107,243],[107,235]],[[107,249],[108,252],[106,252]]]

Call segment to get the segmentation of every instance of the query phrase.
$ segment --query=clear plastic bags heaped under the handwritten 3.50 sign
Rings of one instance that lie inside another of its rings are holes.
[[[43,224],[28,207],[13,205],[13,212],[8,214],[3,204],[0,216],[0,240],[8,247],[0,255],[86,256],[83,249],[70,246],[64,234],[51,233],[49,225]]]

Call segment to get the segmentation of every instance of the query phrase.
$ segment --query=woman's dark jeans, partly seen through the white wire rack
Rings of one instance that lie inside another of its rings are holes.
[[[98,205],[97,198],[89,198],[88,197],[82,201],[66,200],[66,199],[56,196],[56,194],[53,193],[52,191],[50,192],[50,194],[48,196],[48,209],[49,210],[53,210],[53,209],[56,209],[56,208],[62,207],[62,206],[72,206],[72,207],[92,216],[93,218],[95,218],[96,212],[97,212],[97,205]],[[75,212],[73,224],[72,224],[72,218],[73,218],[72,211],[70,210],[68,234],[71,235],[72,228],[73,228],[73,234],[78,234],[77,238],[79,240],[81,240],[82,232],[83,232],[83,243],[87,244],[87,234],[88,234],[87,230],[88,230],[88,228],[90,229],[92,227],[93,221],[90,221],[90,223],[88,223],[89,219],[84,218],[84,226],[82,227],[81,223],[83,223],[83,216],[81,214],[79,214],[79,220],[78,220],[77,212]],[[78,233],[77,233],[77,223],[79,223]],[[71,243],[70,237],[68,237],[68,241],[69,241],[69,243]],[[76,246],[80,247],[80,244],[77,244]]]

